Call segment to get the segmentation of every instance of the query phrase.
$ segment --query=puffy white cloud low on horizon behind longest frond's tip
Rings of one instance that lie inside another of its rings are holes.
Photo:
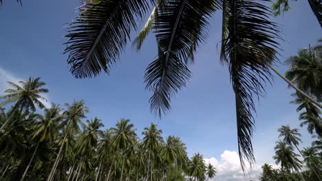
[[[247,166],[246,175],[241,169],[239,156],[237,152],[231,152],[225,150],[220,156],[220,161],[216,158],[204,158],[206,164],[211,163],[216,168],[216,176],[213,180],[221,181],[244,181],[244,180],[259,180],[261,173],[261,165],[253,165],[250,169],[249,164]],[[273,167],[276,167],[273,165]],[[208,179],[208,181],[213,181]]]

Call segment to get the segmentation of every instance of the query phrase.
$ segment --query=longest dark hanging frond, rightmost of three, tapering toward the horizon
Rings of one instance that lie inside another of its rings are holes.
[[[222,58],[228,64],[235,92],[239,158],[243,169],[245,160],[250,165],[255,161],[251,142],[256,111],[253,97],[265,93],[262,84],[270,82],[267,64],[275,59],[278,46],[277,25],[268,21],[271,12],[264,5],[267,2],[226,0],[228,36],[222,40]]]

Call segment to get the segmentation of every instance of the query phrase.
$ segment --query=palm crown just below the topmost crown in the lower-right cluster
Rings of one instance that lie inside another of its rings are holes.
[[[275,159],[276,164],[281,163],[281,169],[285,169],[290,172],[291,170],[299,171],[301,169],[301,161],[293,152],[293,147],[288,145],[285,142],[277,141],[277,145],[275,146]]]

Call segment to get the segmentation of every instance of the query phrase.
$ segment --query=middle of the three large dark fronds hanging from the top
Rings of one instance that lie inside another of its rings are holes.
[[[215,1],[167,0],[158,9],[153,29],[158,43],[158,58],[146,70],[147,88],[153,90],[151,110],[161,116],[170,109],[171,97],[186,86],[197,45],[206,38],[208,18]]]

